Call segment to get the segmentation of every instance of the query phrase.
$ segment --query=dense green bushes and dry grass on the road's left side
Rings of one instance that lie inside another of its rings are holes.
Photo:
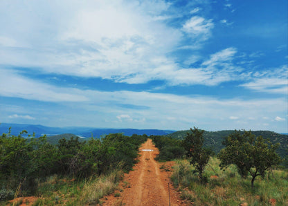
[[[19,196],[41,197],[35,205],[96,204],[116,189],[123,173],[132,169],[138,147],[147,135],[109,134],[80,141],[46,136],[0,136],[0,201]]]

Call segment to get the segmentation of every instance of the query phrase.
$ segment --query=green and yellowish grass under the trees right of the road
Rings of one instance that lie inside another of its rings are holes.
[[[251,178],[241,178],[233,165],[220,170],[217,158],[210,158],[206,167],[207,184],[201,184],[193,170],[187,160],[179,160],[171,179],[182,198],[195,205],[271,205],[271,199],[276,205],[288,205],[288,171],[269,171],[264,178],[256,178],[252,189]]]

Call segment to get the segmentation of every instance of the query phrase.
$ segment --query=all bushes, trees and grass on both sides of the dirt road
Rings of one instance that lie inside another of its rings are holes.
[[[101,204],[132,169],[148,138],[114,133],[83,141],[71,135],[52,144],[45,135],[23,138],[24,133],[0,136],[0,205],[20,205],[21,199],[8,200],[21,196],[35,196],[34,205]],[[281,145],[234,131],[215,149],[205,134],[194,128],[183,138],[150,136],[160,151],[156,160],[177,160],[171,179],[183,199],[195,205],[288,205],[288,158],[282,158],[288,152],[281,150],[280,157]]]

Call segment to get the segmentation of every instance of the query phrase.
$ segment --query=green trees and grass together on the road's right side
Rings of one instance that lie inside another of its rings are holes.
[[[153,139],[160,145],[159,160],[179,158],[165,148],[184,149],[171,176],[181,198],[195,205],[288,205],[288,169],[279,165],[279,144],[251,131],[234,131],[222,137],[216,156],[197,128],[183,138],[165,138]]]

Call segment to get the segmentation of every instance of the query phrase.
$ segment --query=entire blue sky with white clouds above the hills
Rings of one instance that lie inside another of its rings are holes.
[[[0,1],[0,122],[288,132],[287,1]]]

